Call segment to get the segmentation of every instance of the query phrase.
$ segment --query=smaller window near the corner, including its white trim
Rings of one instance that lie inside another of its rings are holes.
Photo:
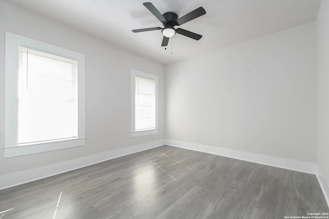
[[[158,133],[158,77],[132,69],[132,137]]]

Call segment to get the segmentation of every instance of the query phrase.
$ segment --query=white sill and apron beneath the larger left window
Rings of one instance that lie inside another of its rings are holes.
[[[85,141],[85,137],[78,137],[65,140],[54,140],[10,147],[7,146],[4,147],[5,158],[84,146]]]

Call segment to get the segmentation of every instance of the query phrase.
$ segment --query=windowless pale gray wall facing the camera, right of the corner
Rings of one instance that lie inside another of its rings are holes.
[[[166,67],[166,134],[316,163],[315,24]]]

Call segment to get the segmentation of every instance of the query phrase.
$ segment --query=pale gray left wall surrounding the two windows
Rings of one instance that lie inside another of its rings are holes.
[[[5,31],[85,54],[86,145],[84,147],[4,158],[0,175],[60,163],[75,158],[163,140],[165,67],[44,16],[0,1],[0,146],[5,133]],[[131,68],[159,76],[159,134],[131,138]],[[114,116],[109,117],[109,111]]]

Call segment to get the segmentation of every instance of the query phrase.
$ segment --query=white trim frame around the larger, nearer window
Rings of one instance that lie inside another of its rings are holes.
[[[78,61],[78,136],[63,140],[18,144],[18,73],[19,46]],[[85,145],[85,65],[84,54],[25,36],[6,32],[5,158]]]

